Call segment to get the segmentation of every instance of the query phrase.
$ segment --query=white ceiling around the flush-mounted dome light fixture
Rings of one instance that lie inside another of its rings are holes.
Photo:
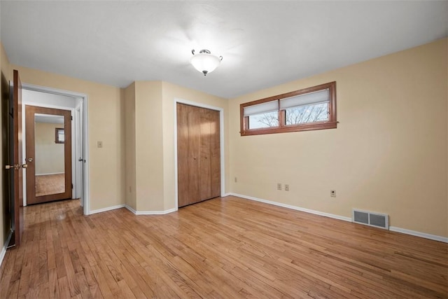
[[[1,1],[11,63],[232,98],[448,36],[448,1]],[[191,50],[223,56],[204,77]]]

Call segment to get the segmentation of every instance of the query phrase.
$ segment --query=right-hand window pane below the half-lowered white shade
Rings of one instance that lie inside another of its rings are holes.
[[[307,106],[296,106],[285,109],[286,125],[315,123],[328,120],[328,103]]]

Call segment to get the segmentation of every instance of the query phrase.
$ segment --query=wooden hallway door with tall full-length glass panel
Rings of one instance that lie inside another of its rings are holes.
[[[25,106],[27,204],[72,197],[71,111]]]

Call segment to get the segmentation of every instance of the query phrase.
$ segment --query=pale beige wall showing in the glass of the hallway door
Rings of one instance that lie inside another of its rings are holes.
[[[35,124],[36,175],[64,173],[64,144],[55,143],[57,127],[64,124]]]

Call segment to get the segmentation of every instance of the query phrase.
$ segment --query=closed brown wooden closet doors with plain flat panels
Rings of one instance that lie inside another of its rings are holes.
[[[220,115],[176,104],[178,207],[221,196]]]

